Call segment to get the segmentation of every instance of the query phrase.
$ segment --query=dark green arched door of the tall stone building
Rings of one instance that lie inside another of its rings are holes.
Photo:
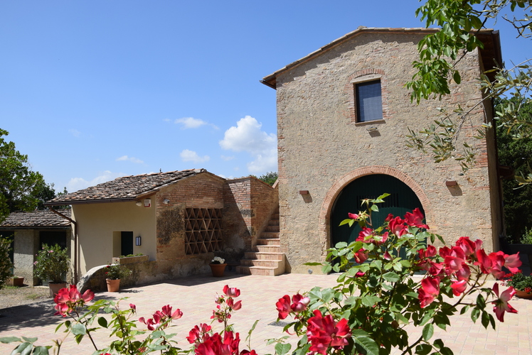
[[[339,226],[340,222],[348,218],[349,212],[358,213],[362,209],[361,200],[373,199],[385,192],[390,196],[385,198],[385,202],[378,204],[379,212],[373,212],[374,227],[381,226],[390,213],[394,216],[403,217],[406,212],[412,212],[413,209],[419,208],[425,214],[415,192],[398,178],[385,174],[362,176],[346,185],[334,200],[330,219],[331,246],[335,246],[339,241],[345,241],[349,244],[356,240],[361,231],[360,227],[358,225],[353,225],[353,227]]]

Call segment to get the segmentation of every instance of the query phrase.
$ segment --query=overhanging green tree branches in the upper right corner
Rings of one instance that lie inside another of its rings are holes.
[[[530,10],[532,1],[527,0],[427,0],[416,11],[425,21],[425,26],[436,25],[440,31],[425,36],[417,45],[419,60],[413,62],[417,72],[413,80],[407,83],[412,89],[411,99],[420,102],[449,94],[449,83],[460,84],[461,75],[457,70],[457,63],[467,52],[483,48],[484,44],[477,38],[477,31],[484,28],[486,21],[504,18],[514,25],[518,37],[526,38],[532,35],[532,17]],[[501,13],[514,13],[513,18]],[[491,63],[490,63],[491,64]],[[514,138],[524,138],[532,133],[532,116],[521,114],[521,107],[531,102],[532,62],[525,60],[510,68],[497,63],[494,81],[482,75],[481,84],[484,99],[503,98],[511,95],[514,102],[506,102],[504,108],[496,112],[497,125],[504,126]],[[462,169],[467,170],[474,164],[476,151],[472,146],[463,144],[457,146],[462,125],[469,114],[483,105],[477,102],[467,110],[456,107],[450,111],[442,111],[441,117],[434,124],[420,131],[410,130],[408,146],[423,153],[432,149],[435,162],[453,158],[458,160]],[[484,129],[491,129],[491,122],[484,122]],[[482,129],[477,138],[484,137]],[[532,182],[531,175],[526,175],[523,182]]]

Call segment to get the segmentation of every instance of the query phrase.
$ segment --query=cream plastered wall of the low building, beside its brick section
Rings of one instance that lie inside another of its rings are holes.
[[[156,208],[137,206],[135,202],[75,204],[73,219],[78,223],[80,275],[90,268],[111,263],[113,234],[119,231],[133,232],[133,252],[156,256]],[[142,245],[135,246],[134,239],[142,237]]]

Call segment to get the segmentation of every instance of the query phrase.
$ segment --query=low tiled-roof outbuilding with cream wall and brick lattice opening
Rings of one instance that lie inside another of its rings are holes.
[[[138,284],[207,273],[215,255],[238,266],[275,218],[278,196],[257,178],[225,180],[197,169],[125,176],[47,205],[72,207],[65,219],[74,231],[76,282],[112,258],[143,253],[149,261],[134,266]],[[282,258],[262,271],[282,273],[281,267]],[[240,271],[251,272],[249,266]]]

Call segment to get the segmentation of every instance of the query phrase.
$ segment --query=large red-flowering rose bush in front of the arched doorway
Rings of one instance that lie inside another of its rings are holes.
[[[323,271],[341,272],[335,287],[313,288],[292,300],[284,295],[277,302],[280,319],[295,317],[284,327],[301,337],[293,354],[376,355],[390,354],[392,348],[403,354],[452,354],[442,339],[432,340],[435,327],[450,326],[450,316],[470,311],[474,322],[480,319],[484,327],[495,328],[488,302],[494,302],[501,322],[505,311],[516,312],[508,304],[513,288],[499,294],[498,283],[493,288],[484,283],[491,275],[503,277],[503,266],[518,271],[518,255],[487,255],[482,241],[467,237],[437,251],[426,241],[443,242],[442,237],[427,231],[418,209],[404,218],[388,215],[383,226],[373,226],[371,215],[387,195],[363,200],[367,211],[349,214],[341,222],[358,223],[362,231],[351,244],[340,242],[329,249],[331,262],[324,263]],[[398,257],[400,251],[405,258]],[[416,272],[425,275],[411,278]],[[422,335],[410,340],[407,324],[422,327]]]

